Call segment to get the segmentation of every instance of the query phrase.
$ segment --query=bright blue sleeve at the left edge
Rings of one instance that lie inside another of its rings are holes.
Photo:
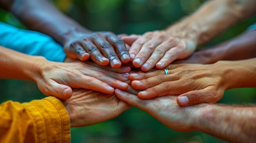
[[[66,57],[63,46],[52,37],[3,22],[0,22],[0,45],[28,55],[40,55],[54,62],[63,62]]]

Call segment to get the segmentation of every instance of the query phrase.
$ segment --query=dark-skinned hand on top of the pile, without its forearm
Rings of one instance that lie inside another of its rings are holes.
[[[114,33],[76,33],[70,37],[64,45],[65,53],[70,58],[85,61],[90,57],[97,64],[109,64],[112,68],[119,68],[121,62],[130,61],[125,43]]]

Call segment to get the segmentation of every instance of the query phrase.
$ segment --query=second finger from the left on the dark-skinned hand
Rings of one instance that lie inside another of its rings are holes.
[[[107,66],[109,64],[109,60],[101,54],[97,46],[92,42],[82,42],[81,44],[85,51],[90,54],[91,59],[95,63],[101,66]]]

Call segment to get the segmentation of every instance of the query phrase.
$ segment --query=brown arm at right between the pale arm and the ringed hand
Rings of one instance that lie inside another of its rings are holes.
[[[241,60],[256,57],[256,31],[245,32],[216,46],[196,51],[190,57],[173,64],[212,64],[220,60]]]

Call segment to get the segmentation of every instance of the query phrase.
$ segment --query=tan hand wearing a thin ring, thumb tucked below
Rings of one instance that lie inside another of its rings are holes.
[[[180,95],[177,99],[178,104],[189,106],[220,100],[224,91],[229,88],[231,69],[229,62],[217,62],[211,65],[173,64],[168,70],[169,75],[164,75],[164,70],[132,73],[130,80],[132,88],[143,90],[138,93],[141,99]]]

